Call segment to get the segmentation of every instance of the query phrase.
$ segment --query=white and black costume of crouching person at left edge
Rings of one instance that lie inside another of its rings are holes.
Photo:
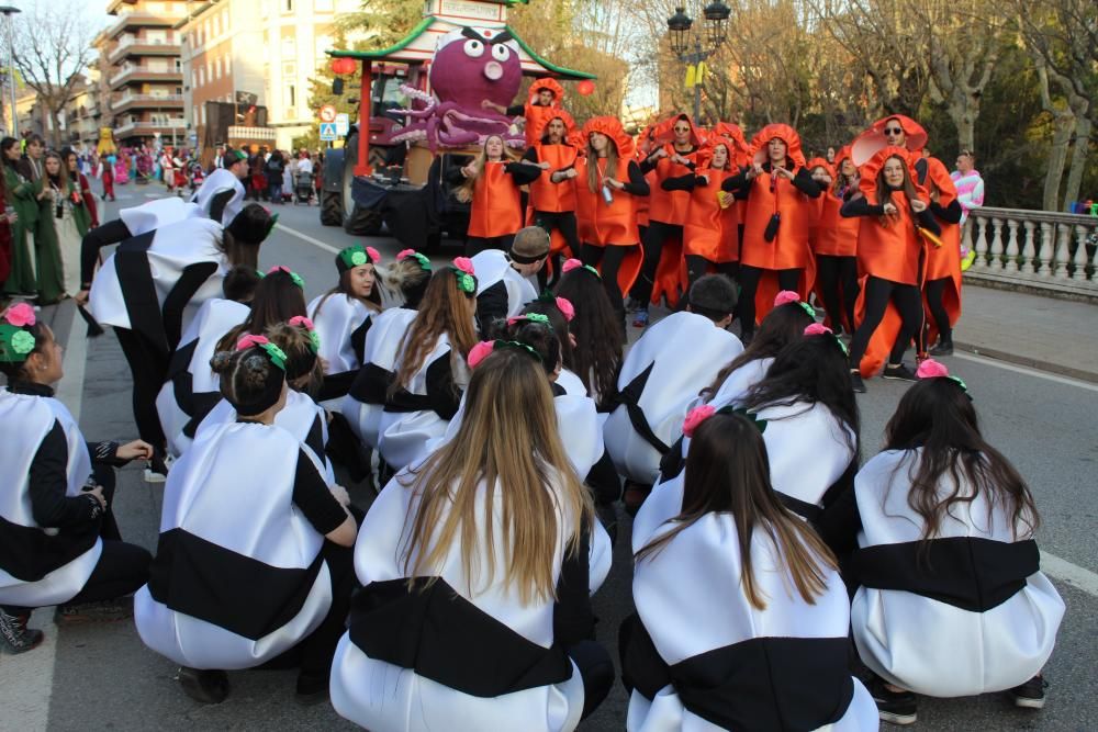
[[[115,459],[116,442],[89,444],[80,428],[41,384],[0,390],[0,605],[36,608],[113,599],[139,587],[149,554],[119,541],[110,505],[114,476],[97,470]],[[94,478],[93,478],[94,471]]]

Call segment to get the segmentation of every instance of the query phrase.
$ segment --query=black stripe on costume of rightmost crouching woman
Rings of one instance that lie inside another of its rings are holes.
[[[898,589],[985,612],[1002,605],[1041,570],[1037,542],[968,537],[877,544],[854,552],[850,572],[861,585]]]

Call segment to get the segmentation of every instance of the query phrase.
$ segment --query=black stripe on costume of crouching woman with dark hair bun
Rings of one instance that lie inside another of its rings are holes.
[[[324,563],[271,566],[176,528],[165,531],[149,567],[157,603],[254,641],[293,620]]]

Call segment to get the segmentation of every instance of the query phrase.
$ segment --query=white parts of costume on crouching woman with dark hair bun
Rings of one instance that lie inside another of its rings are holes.
[[[161,543],[153,576],[157,576],[157,564],[163,560],[159,554],[166,532],[178,530],[229,555],[254,560],[255,566],[310,567],[320,555],[324,537],[293,506],[299,454],[307,452],[301,452],[293,435],[276,426],[229,423],[195,437],[165,485]],[[209,574],[203,582],[216,584],[217,567],[205,571]],[[173,567],[168,573],[173,575]],[[264,582],[261,573],[256,582]],[[184,589],[175,593],[180,595]],[[322,562],[301,609],[258,639],[173,610],[153,597],[149,585],[134,597],[134,621],[145,645],[176,663],[193,668],[250,668],[309,635],[324,620],[330,604],[332,581]]]

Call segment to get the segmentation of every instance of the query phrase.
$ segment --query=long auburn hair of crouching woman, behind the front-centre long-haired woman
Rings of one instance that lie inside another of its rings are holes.
[[[444,333],[459,358],[469,354],[469,349],[477,345],[473,328],[475,307],[477,300],[458,288],[452,269],[446,267],[435,272],[419,303],[419,311],[397,349],[400,369],[389,386],[390,395],[408,385]]]

